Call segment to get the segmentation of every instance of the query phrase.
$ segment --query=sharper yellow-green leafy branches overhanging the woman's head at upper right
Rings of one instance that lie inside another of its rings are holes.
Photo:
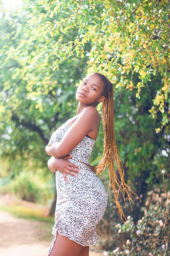
[[[51,20],[48,26],[52,37],[59,36],[60,39],[56,45],[60,63],[63,49],[67,52],[65,58],[74,52],[82,58],[89,56],[89,72],[102,71],[116,87],[135,88],[137,98],[140,98],[142,87],[147,88],[151,76],[161,76],[150,109],[153,117],[157,111],[162,113],[161,129],[168,122],[168,6],[168,0],[61,0],[57,4],[49,1],[46,7],[52,19],[61,12],[69,13],[60,22]],[[63,35],[68,37],[76,27],[78,35],[72,35],[70,41],[64,43]],[[86,52],[88,42],[91,47]],[[58,68],[58,60],[54,62],[54,68]],[[134,74],[138,77],[135,82]]]

